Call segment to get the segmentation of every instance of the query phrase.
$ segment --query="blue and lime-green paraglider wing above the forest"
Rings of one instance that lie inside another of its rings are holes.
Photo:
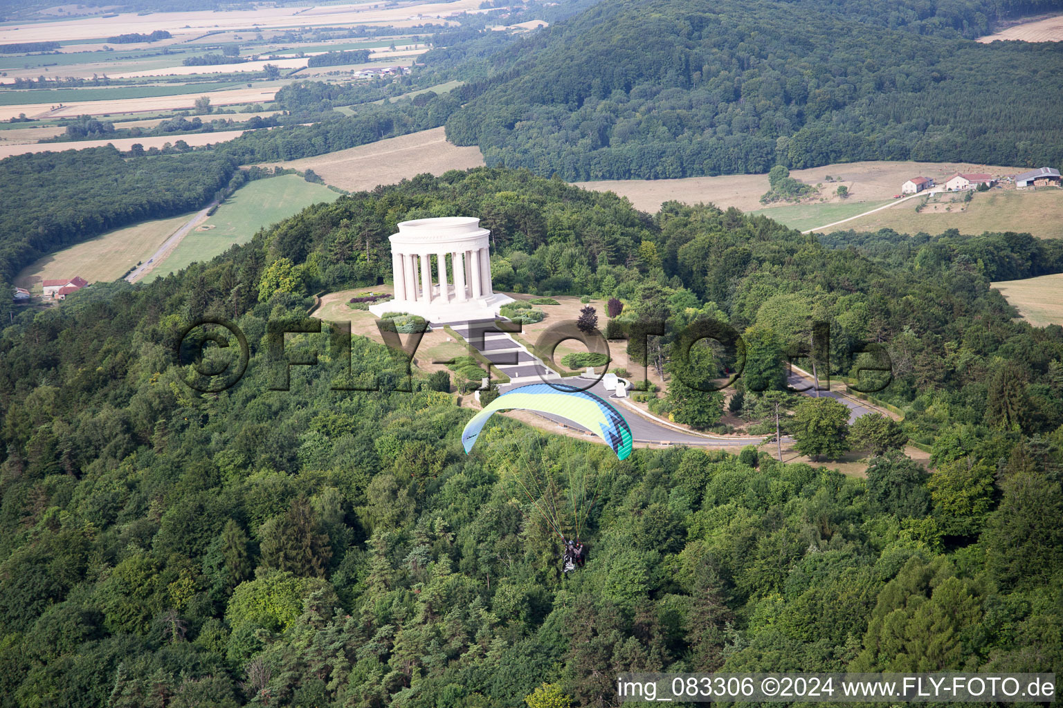
[[[461,432],[466,453],[496,411],[521,410],[568,418],[598,435],[620,460],[631,454],[631,429],[624,416],[597,396],[563,384],[532,383],[502,394],[477,413]]]

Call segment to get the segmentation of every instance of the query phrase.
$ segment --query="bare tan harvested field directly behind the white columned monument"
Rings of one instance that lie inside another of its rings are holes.
[[[442,127],[388,138],[350,150],[304,157],[282,167],[314,170],[327,184],[352,192],[431,172],[468,170],[484,166],[479,148],[458,148],[446,141]]]

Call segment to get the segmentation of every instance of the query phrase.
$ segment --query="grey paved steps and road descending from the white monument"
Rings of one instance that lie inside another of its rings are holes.
[[[497,331],[484,331],[483,326],[486,323],[453,323],[451,327],[455,332],[465,338],[467,342],[472,344],[492,364],[494,364],[495,368],[510,378],[509,383],[499,384],[500,391],[505,392],[516,386],[523,386],[529,383],[537,383],[539,381],[556,381],[558,383],[567,383],[569,385],[576,385],[579,387],[587,386],[591,383],[591,379],[584,379],[583,377],[562,378],[557,373],[542,364],[542,362],[536,358],[535,355],[528,351],[528,349],[522,344],[513,340],[509,334]],[[472,331],[470,331],[470,327],[473,328]],[[482,332],[478,335],[476,333],[477,329]],[[875,409],[870,408],[868,404],[863,401],[853,398],[851,396],[846,396],[837,391],[813,391],[811,376],[800,369],[796,369],[791,374],[789,382],[790,385],[802,391],[806,396],[819,395],[820,397],[829,397],[838,400],[849,409],[849,422],[853,422],[865,413],[875,412]],[[587,388],[587,391],[602,398],[608,399],[614,408],[620,410],[620,412],[624,415],[624,418],[627,420],[627,425],[631,429],[631,435],[635,437],[637,443],[663,443],[718,447],[757,445],[765,439],[765,436],[712,435],[688,431],[669,422],[668,420],[652,416],[651,414],[637,408],[630,399],[617,398],[613,392],[606,391],[601,381],[593,383]],[[571,420],[567,420],[558,416],[544,415],[543,417],[554,420],[558,425],[566,425],[570,428],[588,432],[584,428],[573,424]],[[789,438],[784,437],[784,439]]]

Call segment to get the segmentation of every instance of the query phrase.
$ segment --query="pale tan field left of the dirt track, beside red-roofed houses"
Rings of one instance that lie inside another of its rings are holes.
[[[147,221],[64,248],[22,270],[15,284],[40,294],[41,280],[50,278],[80,275],[89,282],[117,280],[138,262],[150,258],[159,244],[190,218],[191,213],[187,213]]]

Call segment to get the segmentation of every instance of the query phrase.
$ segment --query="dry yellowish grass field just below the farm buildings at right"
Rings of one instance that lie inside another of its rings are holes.
[[[1043,239],[1063,238],[1063,189],[976,192],[963,211],[958,210],[960,204],[957,204],[949,212],[916,213],[915,206],[919,202],[922,200],[910,200],[893,209],[883,209],[827,230],[892,228],[898,234],[926,231],[938,235],[956,228],[961,234],[1026,231]]]

